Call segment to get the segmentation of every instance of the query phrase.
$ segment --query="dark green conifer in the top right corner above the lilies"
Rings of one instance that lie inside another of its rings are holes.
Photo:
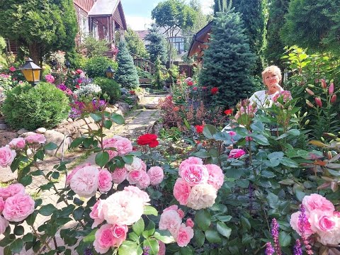
[[[339,0],[292,0],[280,31],[287,45],[314,51],[336,51],[340,47]]]

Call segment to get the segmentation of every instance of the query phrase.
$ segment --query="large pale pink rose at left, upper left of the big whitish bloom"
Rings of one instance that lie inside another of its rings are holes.
[[[96,166],[84,166],[72,177],[69,186],[78,196],[91,198],[98,189],[99,171]]]

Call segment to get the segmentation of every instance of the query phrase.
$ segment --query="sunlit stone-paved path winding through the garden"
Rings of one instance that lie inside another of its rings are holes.
[[[159,113],[160,111],[157,109],[159,98],[164,98],[165,95],[159,95],[159,94],[150,94],[146,95],[142,101],[138,104],[139,107],[128,113],[127,116],[125,116],[125,125],[115,125],[114,128],[111,130],[108,130],[106,132],[106,135],[108,137],[112,137],[113,135],[121,135],[123,137],[127,137],[131,140],[135,140],[139,135],[142,135],[145,132],[150,132],[152,125],[155,121],[159,120]],[[94,159],[96,155],[95,154],[88,154],[84,152],[68,152],[64,155],[64,161],[70,161],[69,164],[67,164],[67,169],[72,169],[74,166],[77,166],[82,163],[90,162],[91,164],[95,164]],[[40,164],[40,169],[50,171],[50,169],[53,168],[53,166],[60,163],[60,158],[57,157],[49,157],[45,159]],[[52,205],[55,205],[57,208],[64,207],[64,203],[59,203],[57,205],[57,200],[59,199],[59,196],[55,195],[55,192],[52,191],[42,191],[39,192],[40,186],[47,183],[44,177],[42,176],[33,176],[33,182],[30,184],[30,186],[26,187],[26,191],[30,193],[31,196],[35,198],[42,198],[43,204],[49,204],[52,203]],[[60,176],[59,182],[55,183],[55,186],[60,189],[64,188],[65,183],[65,175]],[[34,227],[35,229],[38,229],[40,225],[43,224],[47,220],[48,217],[42,216],[38,214],[37,220],[35,220]],[[26,224],[26,222],[25,222]],[[68,222],[65,225],[65,228],[72,227],[72,225],[75,225],[75,222]],[[32,232],[32,229],[28,225],[24,225],[25,228],[25,234],[28,232]],[[1,237],[0,237],[1,239]],[[57,239],[57,245],[63,245],[62,239],[60,239],[59,233],[56,234]],[[54,247],[53,242],[50,242],[50,245]],[[46,250],[47,251],[47,250]],[[0,247],[0,254],[4,254],[4,249]],[[34,251],[28,250],[21,251],[20,255],[33,255],[35,254]],[[73,251],[72,254],[77,254],[76,251]]]

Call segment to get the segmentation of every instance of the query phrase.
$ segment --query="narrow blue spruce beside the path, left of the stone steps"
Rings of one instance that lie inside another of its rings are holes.
[[[133,64],[132,56],[128,52],[125,42],[119,42],[118,48],[116,81],[123,88],[135,89],[140,86],[140,81],[138,81],[137,69],[135,64]]]

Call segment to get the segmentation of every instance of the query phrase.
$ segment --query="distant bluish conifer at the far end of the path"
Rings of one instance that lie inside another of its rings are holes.
[[[145,36],[145,40],[150,42],[147,52],[149,52],[150,61],[156,62],[157,57],[161,60],[163,64],[165,64],[168,60],[168,53],[167,53],[167,43],[164,38],[164,35],[161,35],[158,32],[157,26],[152,25],[149,28],[149,33]]]

